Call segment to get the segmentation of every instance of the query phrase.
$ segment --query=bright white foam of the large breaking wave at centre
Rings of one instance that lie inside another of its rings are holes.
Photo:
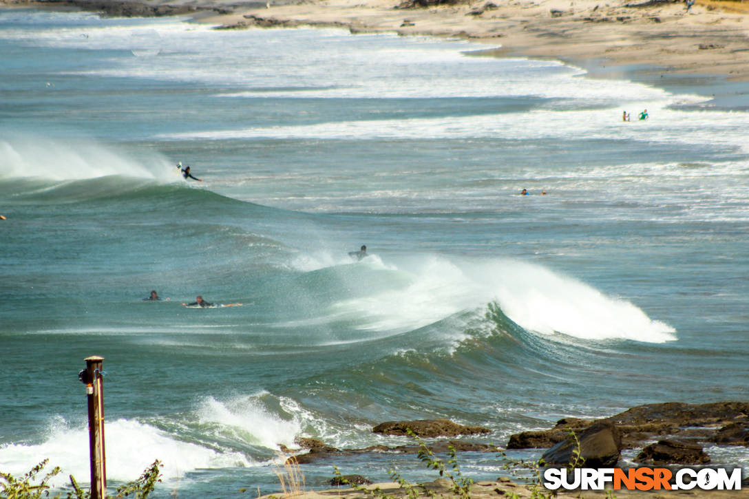
[[[634,303],[536,264],[431,256],[395,267],[407,276],[404,282],[394,281],[386,291],[339,301],[331,307],[334,315],[357,318],[362,330],[404,331],[496,300],[512,321],[534,333],[638,342],[676,339],[673,327],[652,320]]]

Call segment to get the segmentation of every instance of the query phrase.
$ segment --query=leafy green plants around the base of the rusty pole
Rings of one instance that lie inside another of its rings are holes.
[[[9,473],[0,472],[0,498],[2,499],[41,499],[49,498],[60,499],[62,492],[58,492],[57,495],[50,496],[52,486],[49,485],[49,481],[53,477],[61,473],[59,466],[52,468],[52,471],[46,472],[44,476],[39,480],[37,478],[46,467],[49,459],[44,459],[38,465],[31,468],[22,478],[15,478]],[[130,483],[126,483],[124,486],[117,488],[117,495],[110,496],[112,499],[123,499],[126,497],[133,497],[134,499],[147,499],[151,492],[154,492],[156,484],[161,482],[161,462],[157,459],[152,465],[143,471],[143,474],[138,480],[133,480]],[[75,477],[70,475],[70,486],[73,490],[67,492],[65,496],[67,499],[89,499],[91,498],[91,492],[83,490],[78,486]]]

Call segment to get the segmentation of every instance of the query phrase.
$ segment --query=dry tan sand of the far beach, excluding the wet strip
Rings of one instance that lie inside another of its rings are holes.
[[[466,37],[497,55],[596,61],[608,71],[649,64],[667,73],[749,79],[748,16],[737,2],[600,0],[466,1],[401,8],[400,0],[305,1],[206,16],[217,25],[343,25],[351,31],[395,31]],[[617,69],[616,67],[619,67]]]

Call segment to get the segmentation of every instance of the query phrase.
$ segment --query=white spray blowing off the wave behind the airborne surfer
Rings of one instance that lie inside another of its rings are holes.
[[[179,180],[166,158],[152,154],[145,160],[95,142],[65,141],[33,136],[0,140],[0,178],[83,180],[108,175],[158,181]]]

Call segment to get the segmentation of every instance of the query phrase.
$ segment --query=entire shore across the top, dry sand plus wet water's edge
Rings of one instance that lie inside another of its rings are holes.
[[[717,109],[749,109],[749,6],[739,2],[697,0],[687,12],[673,0],[465,0],[429,7],[403,7],[402,0],[279,1],[285,0],[0,0],[0,7],[187,15],[219,29],[311,26],[458,38],[486,45],[480,51],[486,56],[560,61],[588,78],[700,94]]]

